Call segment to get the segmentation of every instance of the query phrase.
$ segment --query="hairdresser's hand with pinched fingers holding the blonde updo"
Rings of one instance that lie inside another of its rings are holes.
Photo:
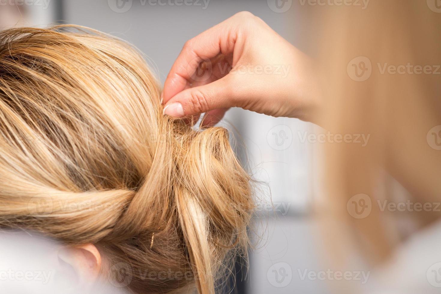
[[[309,120],[318,108],[309,58],[262,19],[239,12],[187,41],[167,76],[164,113],[206,112],[202,127],[230,107]]]

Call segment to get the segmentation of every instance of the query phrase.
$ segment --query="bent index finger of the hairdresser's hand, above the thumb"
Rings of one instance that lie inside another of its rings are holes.
[[[195,73],[198,63],[219,53],[226,55],[232,52],[236,36],[227,19],[187,41],[165,80],[162,97],[164,104],[191,86],[191,76]],[[194,64],[196,66],[192,66]]]

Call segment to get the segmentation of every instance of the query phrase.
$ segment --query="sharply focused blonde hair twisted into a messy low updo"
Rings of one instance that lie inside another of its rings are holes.
[[[159,94],[122,41],[0,32],[0,227],[94,244],[137,293],[213,292],[247,245],[249,178],[225,129],[165,117]]]

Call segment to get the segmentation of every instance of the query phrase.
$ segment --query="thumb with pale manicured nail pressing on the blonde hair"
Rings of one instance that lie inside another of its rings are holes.
[[[164,114],[185,117],[218,108],[234,107],[233,87],[228,80],[225,76],[207,85],[183,90],[167,101]]]

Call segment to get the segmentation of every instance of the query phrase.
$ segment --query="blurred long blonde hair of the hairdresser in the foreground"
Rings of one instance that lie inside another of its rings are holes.
[[[311,26],[302,43],[314,52],[324,77],[325,111],[318,121],[342,137],[370,135],[366,146],[328,142],[318,152],[325,169],[315,175],[323,179],[316,214],[323,220],[326,257],[334,270],[360,269],[357,252],[368,268],[384,265],[411,234],[440,220],[435,209],[382,208],[384,201],[432,208],[441,201],[441,151],[431,141],[441,140],[434,131],[436,126],[441,130],[441,15],[430,2],[304,8]],[[389,71],[390,66],[397,71]],[[400,186],[405,190],[397,190]],[[436,291],[426,281],[427,268],[421,269],[419,286]],[[345,280],[329,283],[337,293],[361,292]]]

